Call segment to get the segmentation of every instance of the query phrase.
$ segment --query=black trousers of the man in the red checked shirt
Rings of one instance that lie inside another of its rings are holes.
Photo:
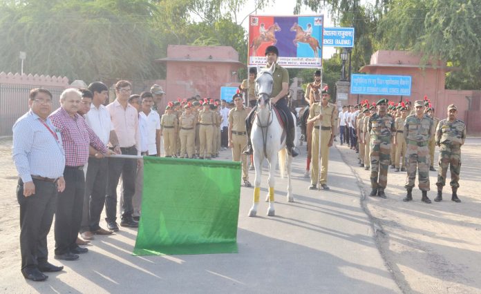
[[[64,254],[77,248],[77,235],[82,222],[85,178],[84,170],[66,166],[65,190],[59,193],[55,210],[55,254]]]

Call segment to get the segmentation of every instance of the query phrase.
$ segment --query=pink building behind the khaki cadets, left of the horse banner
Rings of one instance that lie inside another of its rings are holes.
[[[220,98],[220,87],[238,86],[237,70],[245,65],[230,46],[169,45],[167,57],[156,62],[167,63],[164,91],[168,101],[195,95]]]

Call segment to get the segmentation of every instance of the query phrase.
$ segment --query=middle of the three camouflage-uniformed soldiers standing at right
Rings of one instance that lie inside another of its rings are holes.
[[[424,115],[424,103],[422,100],[414,102],[415,115],[409,115],[404,124],[404,140],[406,141],[406,166],[408,175],[404,188],[408,191],[404,202],[413,200],[413,187],[416,172],[419,172],[419,190],[422,190],[422,202],[431,203],[428,198],[429,190],[429,151],[428,141],[431,139],[433,120]]]

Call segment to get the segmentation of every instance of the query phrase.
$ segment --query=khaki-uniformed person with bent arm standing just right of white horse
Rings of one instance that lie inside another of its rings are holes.
[[[334,113],[335,107],[329,104],[329,93],[325,88],[322,92],[321,103],[312,104],[309,110],[308,123],[314,123],[312,129],[312,168],[311,168],[311,186],[310,190],[317,188],[317,181],[319,179],[319,136],[321,136],[321,179],[319,184],[324,190],[329,190],[328,187],[328,160],[329,148],[332,146],[334,139]]]

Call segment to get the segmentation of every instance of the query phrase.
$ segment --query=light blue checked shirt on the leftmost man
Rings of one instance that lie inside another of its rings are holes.
[[[21,180],[32,182],[31,175],[57,179],[64,175],[65,151],[60,132],[50,119],[46,124],[57,133],[58,141],[30,110],[13,125],[12,157]]]

